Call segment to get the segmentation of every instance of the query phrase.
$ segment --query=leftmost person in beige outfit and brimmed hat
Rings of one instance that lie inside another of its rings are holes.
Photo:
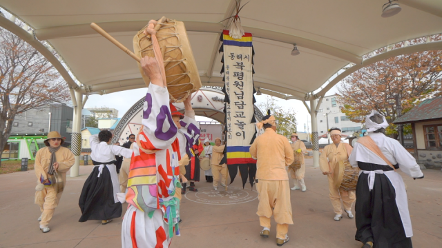
[[[41,211],[38,220],[41,231],[46,233],[50,231],[48,225],[63,193],[57,192],[53,182],[49,179],[50,161],[52,161],[57,173],[63,176],[63,183],[66,185],[66,172],[74,165],[75,157],[70,149],[61,147],[64,138],[57,131],[50,132],[44,143],[46,147],[39,149],[35,156],[34,172],[39,183],[36,187],[37,192],[35,192],[35,204],[39,205]],[[52,154],[55,156],[51,157]]]

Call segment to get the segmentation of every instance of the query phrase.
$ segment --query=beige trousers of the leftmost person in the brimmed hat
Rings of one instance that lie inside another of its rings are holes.
[[[41,228],[48,227],[60,198],[61,193],[57,194],[54,187],[47,187],[39,192],[35,192],[35,204],[40,206],[41,211]]]

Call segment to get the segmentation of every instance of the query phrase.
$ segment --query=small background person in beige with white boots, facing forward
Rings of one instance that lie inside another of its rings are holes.
[[[293,178],[294,181],[294,187],[291,188],[291,190],[298,190],[302,189],[302,192],[305,192],[307,190],[307,187],[305,187],[304,183],[304,176],[305,176],[305,159],[304,154],[307,152],[307,147],[305,147],[304,142],[300,141],[298,138],[298,134],[293,133],[291,134],[291,141],[290,144],[291,149],[293,149],[293,152],[300,155],[301,158],[301,167],[299,169],[293,169],[289,168],[290,176]],[[301,188],[299,185],[301,185]]]

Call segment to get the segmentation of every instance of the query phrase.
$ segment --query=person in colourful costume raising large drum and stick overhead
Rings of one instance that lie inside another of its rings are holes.
[[[128,175],[122,247],[169,247],[173,235],[180,235],[179,161],[193,156],[200,136],[189,96],[201,80],[186,28],[166,17],[151,20],[135,34],[133,53],[97,24],[90,27],[138,62],[148,86]],[[184,116],[171,104],[182,101]]]

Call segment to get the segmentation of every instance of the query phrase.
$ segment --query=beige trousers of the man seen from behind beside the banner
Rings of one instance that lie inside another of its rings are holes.
[[[289,225],[293,224],[290,203],[289,180],[260,180],[258,190],[258,211],[260,226],[270,229],[270,217],[273,215],[276,225],[276,238],[285,239]]]

